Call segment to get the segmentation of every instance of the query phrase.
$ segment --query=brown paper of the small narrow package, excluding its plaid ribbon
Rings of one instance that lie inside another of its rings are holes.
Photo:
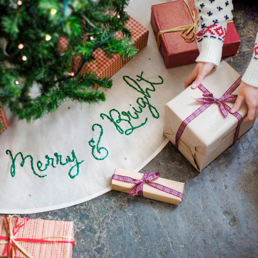
[[[129,176],[133,179],[142,179],[143,173],[138,173],[130,170],[126,170],[123,168],[116,168],[114,174],[122,175],[122,176]],[[162,184],[163,186],[172,188],[176,191],[179,191],[183,193],[184,191],[184,183],[165,179],[165,178],[157,178],[153,180],[152,182]],[[119,180],[112,179],[111,189],[120,191],[120,192],[130,192],[130,190],[135,186],[135,184],[122,182]],[[146,198],[158,200],[158,201],[164,201],[166,203],[171,203],[175,205],[179,205],[181,202],[181,198],[171,195],[169,193],[163,192],[161,190],[156,189],[155,187],[150,186],[147,183],[143,184],[143,196]]]

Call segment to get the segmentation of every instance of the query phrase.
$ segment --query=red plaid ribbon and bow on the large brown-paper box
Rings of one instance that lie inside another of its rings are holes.
[[[219,98],[216,99],[212,93],[210,93],[202,84],[198,86],[200,90],[204,92],[203,96],[205,98],[197,98],[195,100],[199,102],[204,102],[202,106],[200,106],[198,109],[196,109],[190,116],[188,116],[184,121],[181,123],[181,125],[178,128],[178,131],[176,132],[176,138],[175,138],[175,146],[178,148],[178,140],[181,138],[184,129],[186,126],[193,120],[195,119],[198,115],[200,115],[204,110],[206,110],[209,106],[211,106],[213,103],[217,103],[220,107],[220,111],[222,112],[224,118],[228,116],[228,112],[230,112],[231,108],[223,103],[224,101],[229,101],[229,102],[235,102],[237,99],[237,95],[231,94],[240,84],[241,82],[241,77],[239,76],[237,80],[228,88],[228,90]],[[233,143],[235,143],[238,139],[238,134],[239,134],[239,127],[240,124],[243,120],[243,117],[238,113],[230,113],[231,115],[235,116],[238,119],[238,125],[234,137]]]

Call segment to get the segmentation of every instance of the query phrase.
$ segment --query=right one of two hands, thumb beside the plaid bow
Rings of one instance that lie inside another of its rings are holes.
[[[239,85],[237,100],[230,112],[237,112],[243,100],[245,100],[248,107],[248,113],[243,119],[243,122],[252,121],[258,116],[258,88],[241,82]]]

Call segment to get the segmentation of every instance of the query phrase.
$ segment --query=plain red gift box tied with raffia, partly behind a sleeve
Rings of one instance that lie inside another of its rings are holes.
[[[163,30],[187,25],[192,25],[192,28],[197,26],[197,11],[195,7],[192,10],[194,0],[188,0],[188,4],[189,8],[183,0],[178,0],[152,5],[150,22],[156,39],[158,33]],[[196,40],[191,38],[192,32],[189,35],[183,35],[189,41],[182,37],[182,31],[166,32],[159,35],[159,49],[167,68],[188,65],[195,62],[199,55],[199,50]],[[222,48],[222,57],[235,55],[240,43],[241,40],[234,23],[228,23]]]

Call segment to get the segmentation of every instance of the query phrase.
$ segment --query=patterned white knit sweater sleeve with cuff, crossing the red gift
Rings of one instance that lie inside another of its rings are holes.
[[[200,25],[196,34],[196,62],[220,64],[228,20],[233,18],[232,0],[195,0]]]

